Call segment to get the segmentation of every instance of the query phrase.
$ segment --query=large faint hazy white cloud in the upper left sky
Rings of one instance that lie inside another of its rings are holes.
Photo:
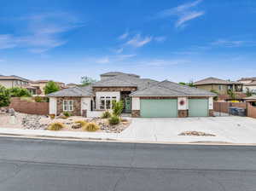
[[[71,14],[35,14],[21,17],[26,22],[26,35],[0,35],[0,49],[26,48],[33,53],[43,53],[67,43],[61,39],[63,32],[82,26]]]

